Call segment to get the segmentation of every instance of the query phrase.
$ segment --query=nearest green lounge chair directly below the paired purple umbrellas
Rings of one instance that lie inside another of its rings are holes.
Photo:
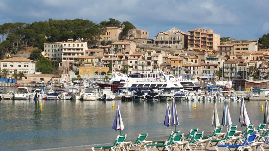
[[[171,148],[173,148],[173,151],[175,151],[177,147],[180,149],[180,146],[181,146],[183,150],[183,145],[187,145],[189,143],[189,142],[183,142],[183,140],[184,140],[184,133],[174,133],[170,142],[168,142],[167,144],[144,145],[144,148],[146,149],[146,151],[149,151],[151,147],[152,147],[151,151],[153,151],[154,148],[158,148],[158,150],[159,148],[164,148],[164,149],[166,148],[168,151],[171,151]]]

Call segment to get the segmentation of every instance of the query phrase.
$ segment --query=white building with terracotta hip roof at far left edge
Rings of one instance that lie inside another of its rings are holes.
[[[8,69],[10,74],[14,72],[24,72],[25,74],[35,73],[35,61],[22,57],[1,60],[0,65],[1,72],[3,69]]]

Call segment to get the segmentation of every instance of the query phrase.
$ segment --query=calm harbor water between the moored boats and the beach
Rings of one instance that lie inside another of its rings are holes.
[[[43,104],[40,107],[40,103]],[[115,107],[112,107],[112,104]],[[139,133],[150,138],[169,136],[172,127],[164,126],[167,102],[115,101],[0,101],[0,150],[53,150],[58,147],[91,146],[112,143],[119,131],[112,129],[116,106],[120,105],[124,123],[123,134],[134,140]],[[171,107],[171,101],[168,102]],[[228,102],[233,124],[238,123],[239,102]],[[264,101],[246,102],[255,127],[263,122]],[[196,104],[197,108],[193,108]],[[216,102],[221,122],[223,102]],[[181,132],[199,128],[210,134],[214,102],[176,102]],[[226,131],[226,127],[223,128]]]

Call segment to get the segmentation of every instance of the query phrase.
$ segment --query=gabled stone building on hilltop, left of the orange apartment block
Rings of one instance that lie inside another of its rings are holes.
[[[188,35],[185,32],[173,27],[154,36],[154,43],[161,48],[187,49],[187,38]]]

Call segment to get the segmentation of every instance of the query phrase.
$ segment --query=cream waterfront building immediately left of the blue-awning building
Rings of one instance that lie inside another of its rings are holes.
[[[200,79],[201,77],[201,65],[197,64],[183,64],[182,65],[182,73],[189,74],[192,79]]]

